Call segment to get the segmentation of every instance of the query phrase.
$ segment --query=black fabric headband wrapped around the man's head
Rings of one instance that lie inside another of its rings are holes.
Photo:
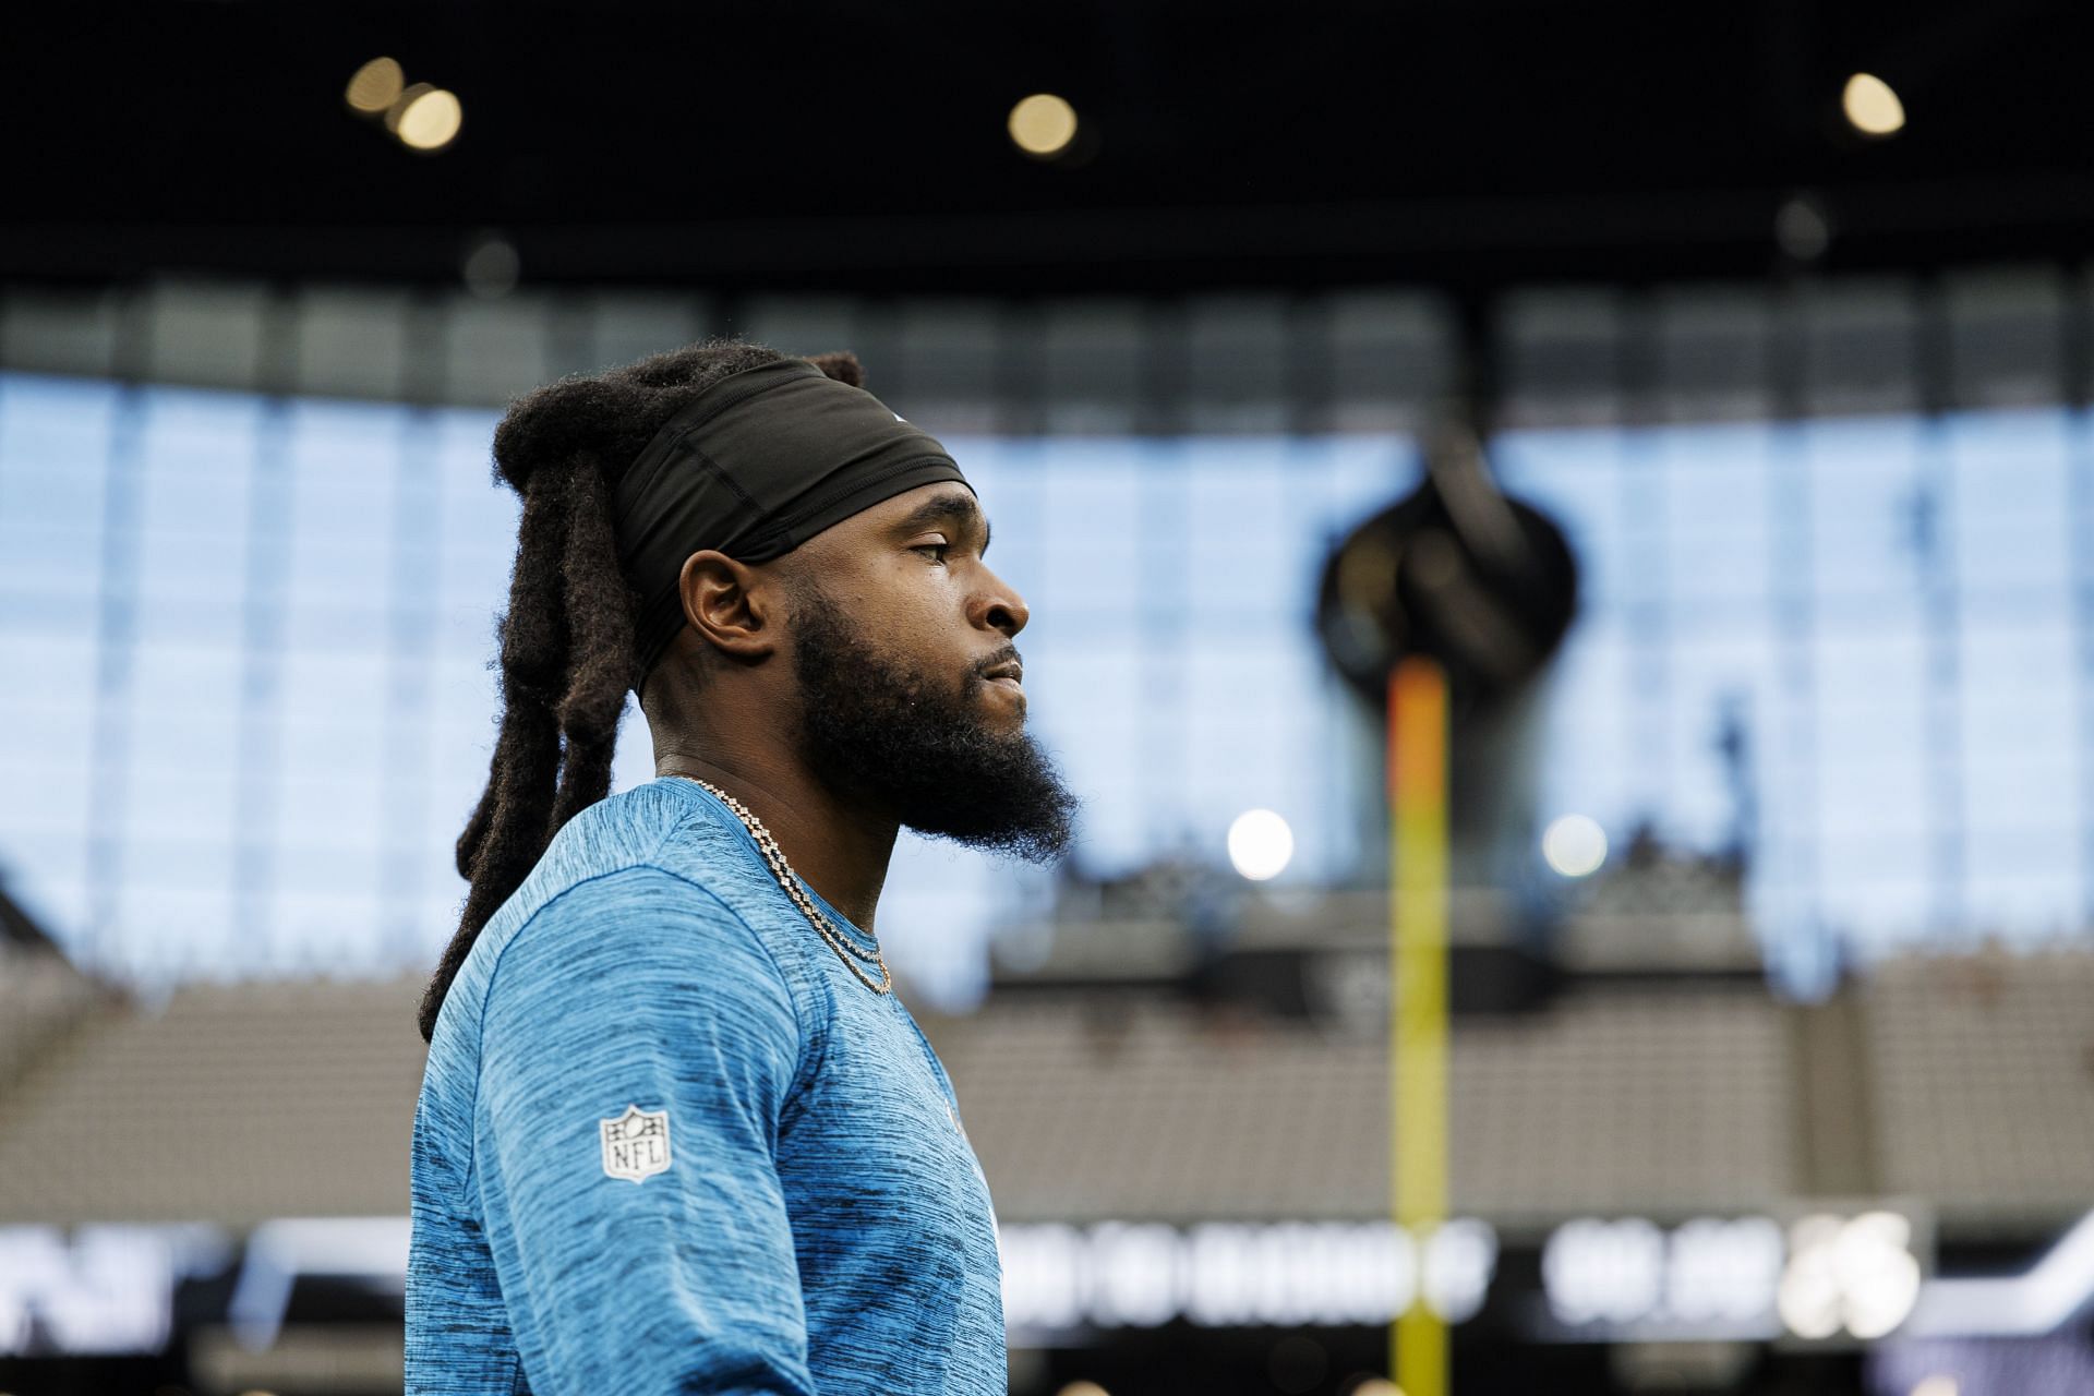
[[[639,674],[683,630],[676,576],[693,553],[762,563],[938,479],[967,486],[936,437],[804,358],[712,383],[647,442],[611,506],[618,557],[641,599]]]

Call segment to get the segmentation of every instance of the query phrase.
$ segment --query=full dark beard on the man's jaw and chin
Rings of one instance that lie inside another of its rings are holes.
[[[988,680],[978,670],[934,676],[896,663],[846,628],[815,584],[794,588],[792,628],[800,749],[817,779],[965,848],[1026,862],[1068,852],[1078,802],[1030,733],[982,718],[976,686]]]

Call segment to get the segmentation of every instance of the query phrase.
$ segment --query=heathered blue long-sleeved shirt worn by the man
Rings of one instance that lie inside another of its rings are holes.
[[[668,1111],[637,1183],[599,1134],[628,1105]],[[574,816],[450,986],[415,1109],[406,1390],[1005,1390],[995,1214],[944,1067],[691,781]]]

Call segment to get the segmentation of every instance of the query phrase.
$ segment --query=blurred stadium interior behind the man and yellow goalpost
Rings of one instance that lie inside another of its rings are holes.
[[[1013,1396],[2094,1392],[2073,6],[52,19],[0,96],[0,1394],[402,1390],[490,431],[706,335],[852,350],[1034,611],[1076,854],[909,837],[879,913]]]

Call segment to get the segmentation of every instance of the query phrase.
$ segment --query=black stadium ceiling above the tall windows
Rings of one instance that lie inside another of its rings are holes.
[[[1826,6],[44,6],[10,44],[0,276],[197,270],[850,291],[1761,276],[2077,262],[2094,88],[2073,0]],[[27,40],[27,31],[19,36]],[[459,94],[415,155],[346,103]],[[1853,73],[1908,126],[1855,132]],[[1022,155],[1013,103],[1074,107]],[[1805,239],[1809,243],[1809,239]],[[1786,260],[1784,260],[1786,257]]]

